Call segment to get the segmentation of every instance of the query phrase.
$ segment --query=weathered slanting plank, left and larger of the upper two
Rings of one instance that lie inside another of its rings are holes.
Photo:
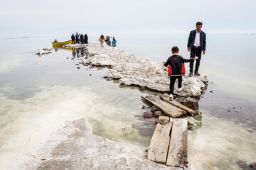
[[[150,103],[154,104],[154,106],[158,107],[166,113],[166,115],[171,116],[172,118],[177,118],[183,114],[186,114],[186,111],[181,110],[180,108],[177,108],[176,106],[171,105],[170,103],[161,100],[161,98],[155,97],[155,96],[142,96],[146,101],[149,101]]]

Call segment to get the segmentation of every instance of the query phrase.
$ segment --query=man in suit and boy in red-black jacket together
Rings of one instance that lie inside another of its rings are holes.
[[[184,59],[180,55],[178,55],[179,49],[178,47],[172,47],[171,53],[172,56],[168,58],[166,62],[164,62],[165,67],[169,67],[168,74],[170,78],[170,95],[169,99],[173,100],[174,94],[174,84],[176,79],[178,79],[178,91],[182,91],[182,76],[185,75],[185,65],[184,62],[190,62],[189,64],[189,77],[193,77],[193,62],[196,60],[196,68],[194,75],[200,76],[198,72],[201,60],[201,54],[203,51],[203,55],[206,54],[206,33],[204,33],[201,28],[203,23],[196,23],[196,30],[191,30],[188,37],[188,52],[191,52],[190,59]]]

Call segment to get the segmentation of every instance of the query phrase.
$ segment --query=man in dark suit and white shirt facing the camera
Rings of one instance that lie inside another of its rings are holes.
[[[206,54],[206,33],[201,30],[203,26],[203,23],[197,22],[196,23],[196,30],[191,30],[189,37],[188,37],[188,52],[191,52],[191,58],[198,57],[198,60],[196,60],[196,68],[195,68],[195,75],[200,76],[198,73],[200,60],[201,60],[201,54],[203,51],[203,55]],[[189,77],[193,76],[193,62],[190,62],[190,73]]]

